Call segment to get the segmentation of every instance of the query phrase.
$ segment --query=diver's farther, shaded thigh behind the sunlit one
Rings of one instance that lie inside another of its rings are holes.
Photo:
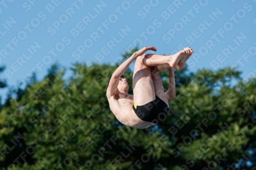
[[[155,88],[156,96],[162,101],[164,101],[167,104],[167,106],[169,106],[168,100],[164,93],[164,88],[163,88],[162,80],[159,76],[159,72],[154,67],[151,67],[151,77],[152,77],[153,85]]]

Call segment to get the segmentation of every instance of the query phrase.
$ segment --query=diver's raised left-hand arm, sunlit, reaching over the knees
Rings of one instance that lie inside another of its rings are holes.
[[[117,69],[113,72],[112,77],[110,79],[110,83],[109,83],[109,87],[108,90],[109,94],[112,96],[113,94],[117,94],[119,92],[119,90],[117,89],[118,86],[118,82],[119,82],[119,78],[120,76],[122,76],[124,74],[124,72],[126,71],[126,69],[131,65],[131,63],[134,61],[134,59],[136,59],[137,57],[143,55],[146,51],[148,50],[153,50],[153,51],[157,51],[156,48],[154,46],[150,46],[150,47],[143,47],[141,50],[135,52],[131,57],[129,57],[127,60],[125,60],[119,67],[117,67]],[[108,92],[107,92],[108,93]]]

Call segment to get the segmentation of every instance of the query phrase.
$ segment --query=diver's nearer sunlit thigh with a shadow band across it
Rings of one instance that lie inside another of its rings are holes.
[[[144,55],[136,59],[133,72],[134,103],[144,105],[156,99],[155,88],[151,77],[151,69],[143,65]]]

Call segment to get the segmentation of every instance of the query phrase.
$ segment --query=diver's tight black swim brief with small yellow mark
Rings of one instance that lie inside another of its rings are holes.
[[[161,99],[157,98],[145,105],[137,106],[133,104],[133,110],[136,115],[145,122],[158,124],[166,119],[169,108]]]

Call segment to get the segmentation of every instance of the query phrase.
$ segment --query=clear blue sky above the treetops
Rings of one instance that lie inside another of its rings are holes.
[[[1,1],[0,76],[15,87],[33,70],[41,80],[56,61],[115,63],[139,44],[169,55],[190,46],[190,71],[237,65],[247,80],[256,75],[255,8],[255,0]]]

